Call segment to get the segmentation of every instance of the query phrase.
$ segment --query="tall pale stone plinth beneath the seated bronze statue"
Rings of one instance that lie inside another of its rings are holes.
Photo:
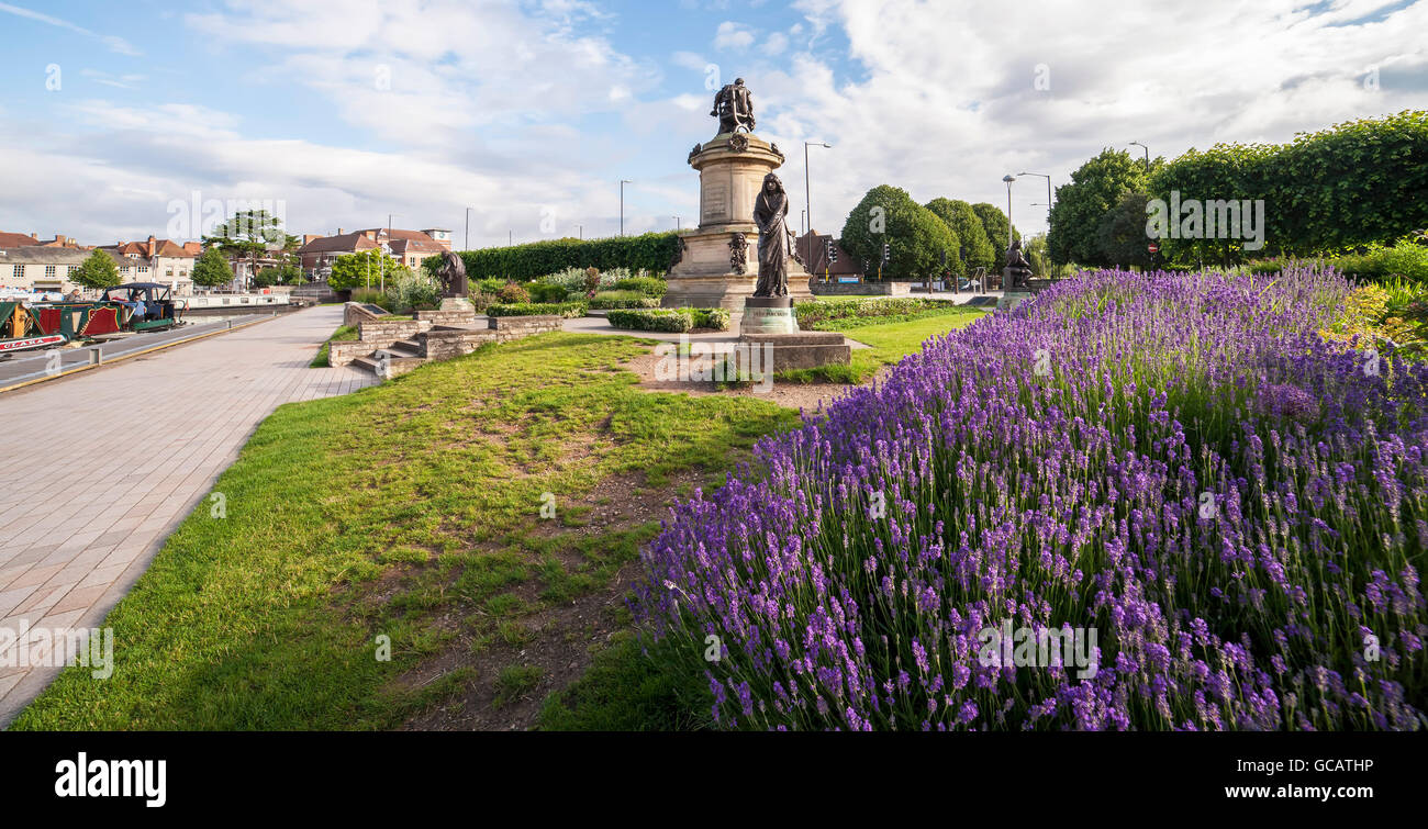
[[[665,308],[723,307],[740,311],[758,283],[758,228],[754,201],[764,176],[784,163],[773,144],[748,133],[723,133],[690,153],[700,171],[700,227],[681,237],[680,264],[668,275]],[[737,234],[744,234],[743,265],[737,264]],[[788,294],[808,300],[808,271],[788,258]]]

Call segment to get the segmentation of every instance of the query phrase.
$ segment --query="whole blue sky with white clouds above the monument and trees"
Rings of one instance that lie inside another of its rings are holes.
[[[197,194],[458,244],[470,207],[477,247],[613,234],[620,178],[627,231],[668,228],[695,220],[707,87],[741,76],[794,210],[803,141],[834,144],[811,178],[835,233],[877,184],[1004,204],[1004,174],[1062,184],[1131,140],[1424,108],[1422,31],[1428,0],[0,1],[0,230],[194,237]],[[1044,201],[1018,181],[1018,227]]]

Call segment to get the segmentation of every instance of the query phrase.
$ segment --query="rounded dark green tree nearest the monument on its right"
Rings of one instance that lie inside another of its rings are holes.
[[[955,268],[960,243],[952,228],[931,210],[912,201],[905,190],[880,184],[863,197],[843,224],[843,250],[858,261],[867,261],[877,274],[883,261],[883,245],[891,245],[892,258],[883,267],[884,280],[922,280],[947,265]]]

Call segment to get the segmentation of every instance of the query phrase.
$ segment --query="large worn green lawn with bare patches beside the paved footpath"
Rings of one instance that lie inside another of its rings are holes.
[[[603,511],[717,482],[797,421],[640,391],[620,362],[648,347],[545,334],[280,407],[218,478],[223,514],[200,505],[103,622],[114,675],[64,671],[11,728],[373,729],[476,682],[493,705],[528,696],[527,621],[623,594],[613,575],[657,529]],[[486,675],[464,663],[496,652]]]

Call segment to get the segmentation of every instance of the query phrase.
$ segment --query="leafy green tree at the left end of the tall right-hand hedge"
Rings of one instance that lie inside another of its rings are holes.
[[[1164,164],[1151,163],[1151,171]],[[1101,218],[1121,197],[1145,191],[1145,163],[1124,150],[1107,147],[1101,154],[1071,174],[1071,183],[1057,187],[1055,207],[1051,208],[1051,233],[1047,243],[1057,263],[1108,265],[1100,247]],[[1144,235],[1144,217],[1141,235]]]

